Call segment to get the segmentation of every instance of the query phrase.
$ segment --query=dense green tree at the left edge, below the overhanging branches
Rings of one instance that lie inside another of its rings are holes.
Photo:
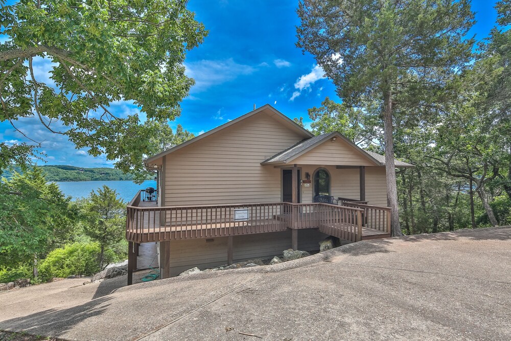
[[[76,210],[38,167],[0,181],[0,264],[36,265],[37,259],[67,242]],[[37,270],[34,271],[35,275]]]

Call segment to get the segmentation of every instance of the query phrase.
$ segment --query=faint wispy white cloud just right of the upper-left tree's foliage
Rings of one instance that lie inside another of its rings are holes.
[[[195,79],[192,92],[202,92],[211,86],[234,80],[242,75],[250,75],[255,67],[239,64],[233,58],[224,60],[199,60],[185,63],[185,74]]]

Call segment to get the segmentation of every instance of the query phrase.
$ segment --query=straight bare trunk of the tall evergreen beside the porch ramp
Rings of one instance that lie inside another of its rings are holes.
[[[394,164],[394,141],[392,137],[392,93],[384,92],[383,137],[385,142],[385,172],[387,176],[387,205],[390,207],[390,235],[402,236],[399,223],[398,186]]]

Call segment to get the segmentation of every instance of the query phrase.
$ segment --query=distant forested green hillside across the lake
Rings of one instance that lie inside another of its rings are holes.
[[[94,180],[133,180],[132,174],[125,174],[114,168],[81,168],[75,166],[40,166],[48,181],[94,181]],[[8,169],[3,176],[11,178],[12,173],[20,172],[18,167]],[[152,178],[152,177],[150,177]]]

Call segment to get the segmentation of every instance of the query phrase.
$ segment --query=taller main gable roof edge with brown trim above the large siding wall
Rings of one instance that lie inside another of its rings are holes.
[[[159,154],[156,154],[156,155],[153,155],[151,157],[148,157],[146,158],[146,160],[144,160],[144,163],[146,164],[146,166],[150,165],[151,162],[154,162],[155,160],[158,160],[160,157],[164,156],[164,155],[168,155],[176,150],[179,150],[185,146],[188,146],[188,145],[191,145],[192,143],[195,143],[199,140],[202,140],[204,139],[205,137],[208,137],[224,128],[227,128],[227,127],[230,127],[231,125],[234,125],[244,119],[247,119],[261,111],[266,111],[267,113],[268,112],[271,112],[272,113],[272,116],[276,116],[277,118],[280,118],[282,123],[284,123],[286,126],[288,126],[289,128],[297,131],[298,133],[302,134],[304,136],[304,138],[313,138],[314,137],[314,134],[312,134],[309,130],[301,127],[300,125],[296,124],[296,122],[294,122],[293,120],[291,120],[289,117],[287,117],[286,115],[284,115],[282,112],[278,111],[277,109],[275,109],[274,107],[272,107],[271,105],[269,104],[265,104],[263,105],[262,107],[259,107],[257,109],[254,109],[250,112],[247,112],[245,115],[243,116],[240,116],[238,117],[237,119],[234,119],[232,121],[229,121],[227,123],[224,123],[214,129],[211,129],[211,130],[208,130],[206,131],[205,133],[203,134],[200,134],[198,136],[196,136],[195,138],[191,139],[191,140],[188,140],[186,142],[183,142],[177,146],[174,146],[170,149],[167,149],[165,151],[162,151],[161,153]]]

